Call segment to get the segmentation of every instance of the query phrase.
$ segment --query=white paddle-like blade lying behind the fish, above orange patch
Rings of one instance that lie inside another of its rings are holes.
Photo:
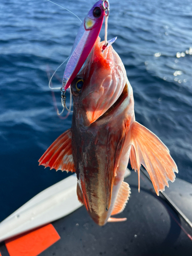
[[[76,189],[74,174],[41,191],[0,223],[0,242],[71,214],[82,206]]]

